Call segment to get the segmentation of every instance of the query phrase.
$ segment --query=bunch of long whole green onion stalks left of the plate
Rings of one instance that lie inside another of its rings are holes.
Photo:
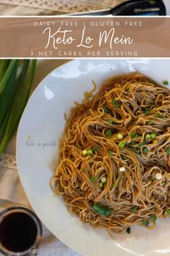
[[[0,155],[20,122],[33,85],[35,67],[36,59],[0,62]]]

